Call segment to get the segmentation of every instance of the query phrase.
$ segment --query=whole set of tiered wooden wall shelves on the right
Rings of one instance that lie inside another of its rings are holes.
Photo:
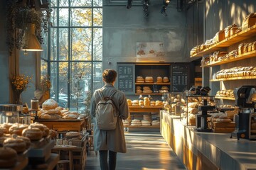
[[[238,44],[242,42],[253,42],[256,40],[256,25],[246,30],[242,30],[240,33],[236,33],[235,35],[231,35],[229,38],[225,38],[215,45],[212,45],[205,50],[197,52],[191,57],[204,57],[209,55],[211,52],[227,50],[231,51],[234,49],[238,49]],[[213,75],[215,72],[218,72],[220,69],[228,69],[234,66],[254,66],[255,67],[255,57],[256,50],[252,50],[250,52],[245,52],[235,57],[230,58],[229,60],[219,60],[215,62],[209,62],[208,64],[202,64],[201,67],[209,68],[210,79],[210,87],[213,87],[211,94],[218,91],[218,89],[234,89],[237,86],[242,86],[245,84],[252,85],[256,82],[255,76],[247,76],[247,77],[228,77],[223,79],[213,79]],[[206,69],[207,70],[207,69]],[[208,71],[206,71],[208,72]],[[207,80],[207,78],[206,78]],[[205,81],[207,82],[207,81]],[[234,83],[235,82],[235,83]],[[216,84],[218,83],[218,84]],[[219,99],[221,103],[234,103],[235,98],[224,97],[224,96],[215,96],[216,99]],[[225,102],[223,102],[225,100]]]

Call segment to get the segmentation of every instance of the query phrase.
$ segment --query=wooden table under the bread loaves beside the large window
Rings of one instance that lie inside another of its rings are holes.
[[[43,120],[36,119],[35,122],[46,125],[49,129],[57,131],[82,131],[82,128],[87,128],[87,118],[84,119],[58,119],[58,120]]]

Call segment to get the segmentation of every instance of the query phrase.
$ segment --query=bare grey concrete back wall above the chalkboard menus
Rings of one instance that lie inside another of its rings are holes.
[[[164,62],[188,62],[186,55],[186,16],[171,1],[161,15],[161,1],[151,1],[149,17],[142,6],[103,7],[103,69],[116,69],[117,62],[137,62],[137,42],[164,42]],[[110,61],[112,64],[107,64]]]

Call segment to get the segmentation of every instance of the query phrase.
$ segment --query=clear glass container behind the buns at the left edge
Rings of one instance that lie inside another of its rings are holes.
[[[22,111],[22,105],[1,104],[0,123],[18,123],[18,114]]]

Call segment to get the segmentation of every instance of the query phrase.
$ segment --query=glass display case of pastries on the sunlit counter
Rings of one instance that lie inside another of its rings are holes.
[[[207,103],[203,103],[206,102]],[[196,115],[201,114],[200,106],[215,106],[215,96],[186,96],[186,103],[181,106],[181,122],[196,126]]]

